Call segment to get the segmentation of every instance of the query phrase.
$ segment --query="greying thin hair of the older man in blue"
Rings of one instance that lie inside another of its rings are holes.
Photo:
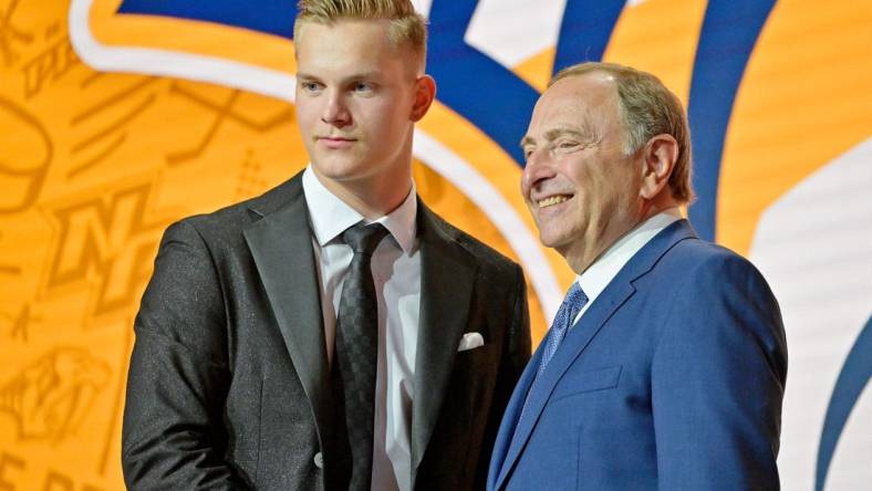
[[[624,152],[633,154],[656,135],[672,135],[678,142],[678,157],[669,176],[672,196],[682,203],[694,199],[691,184],[691,129],[682,103],[660,79],[617,63],[584,62],[561,70],[551,82],[591,72],[605,72],[615,80],[619,111],[624,124]]]

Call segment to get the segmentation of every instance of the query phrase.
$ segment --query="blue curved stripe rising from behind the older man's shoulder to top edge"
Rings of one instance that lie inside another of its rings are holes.
[[[772,6],[775,0],[710,0],[706,8],[687,108],[699,196],[688,213],[706,240],[715,240],[720,160],[736,91]]]

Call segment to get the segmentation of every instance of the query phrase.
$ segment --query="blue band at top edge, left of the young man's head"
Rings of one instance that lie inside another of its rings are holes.
[[[292,39],[297,0],[124,0],[118,13],[217,22]]]

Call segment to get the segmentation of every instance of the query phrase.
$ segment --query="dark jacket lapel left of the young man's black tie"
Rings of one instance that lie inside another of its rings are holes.
[[[330,425],[330,387],[321,296],[299,176],[290,181],[290,200],[262,215],[245,230],[284,345],[305,390],[319,428]]]

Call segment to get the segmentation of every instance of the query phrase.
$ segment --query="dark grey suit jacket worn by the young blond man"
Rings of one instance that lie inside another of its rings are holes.
[[[485,485],[530,356],[521,269],[418,206],[415,489]],[[131,489],[324,489],[331,391],[300,175],[170,226],[136,316],[122,462]],[[464,333],[485,346],[457,352]]]

